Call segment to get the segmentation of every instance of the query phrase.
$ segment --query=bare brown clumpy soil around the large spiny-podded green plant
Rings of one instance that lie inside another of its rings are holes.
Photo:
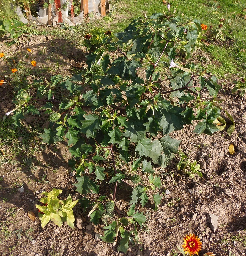
[[[0,48],[8,56],[31,48],[40,76],[46,76],[48,79],[57,73],[70,75],[74,70],[74,63],[83,66],[83,47],[71,47],[70,44],[71,42],[51,36],[32,35],[21,37],[20,44],[11,47],[6,47],[3,39],[0,41]],[[203,53],[200,51],[200,54]],[[194,57],[194,62],[196,61]],[[0,68],[6,70],[3,61],[0,61]],[[231,94],[232,79],[227,77],[218,83],[223,87],[218,97],[225,99],[222,105],[234,117],[237,124],[235,131],[230,137],[226,131],[217,132],[212,136],[197,135],[192,133],[194,127],[190,125],[182,131],[170,134],[175,139],[181,139],[180,149],[192,160],[200,163],[203,177],[191,179],[177,171],[178,159],[174,159],[166,169],[157,168],[163,181],[160,191],[163,193],[162,202],[157,211],[144,210],[147,227],[139,232],[137,245],[130,243],[126,255],[173,255],[172,250],[178,252],[177,246],[181,248],[183,237],[189,233],[197,234],[202,241],[203,248],[199,255],[205,252],[214,252],[217,256],[228,256],[229,252],[234,256],[245,255],[245,97]],[[6,112],[14,108],[12,98],[11,85],[1,86],[1,119]],[[222,112],[222,115],[224,114]],[[28,116],[25,123],[32,127],[45,127],[44,120],[39,120],[38,117]],[[17,144],[23,147],[24,142],[21,138],[18,139]],[[124,255],[117,252],[117,245],[107,244],[97,238],[97,234],[103,234],[103,224],[94,226],[89,223],[88,213],[83,213],[79,204],[74,212],[76,218],[82,218],[80,229],[76,225],[71,229],[66,223],[57,227],[53,222],[49,222],[42,229],[38,218],[33,222],[27,216],[28,211],[33,211],[37,216],[35,204],[41,198],[42,191],[59,188],[64,191],[61,198],[66,198],[68,194],[74,199],[80,197],[74,192],[75,186],[72,185],[76,179],[69,175],[71,170],[67,164],[70,159],[68,147],[62,143],[46,146],[40,142],[38,136],[35,141],[38,146],[29,157],[25,156],[25,152],[19,157],[13,157],[13,152],[6,150],[4,146],[1,148],[0,255]],[[28,147],[28,142],[25,143],[24,146]],[[233,155],[228,150],[231,143],[235,148]],[[20,193],[17,189],[22,184],[24,192]],[[127,185],[123,185],[116,195],[117,205],[121,210],[126,208],[129,202],[126,190]],[[208,222],[210,213],[218,216],[215,232]]]

